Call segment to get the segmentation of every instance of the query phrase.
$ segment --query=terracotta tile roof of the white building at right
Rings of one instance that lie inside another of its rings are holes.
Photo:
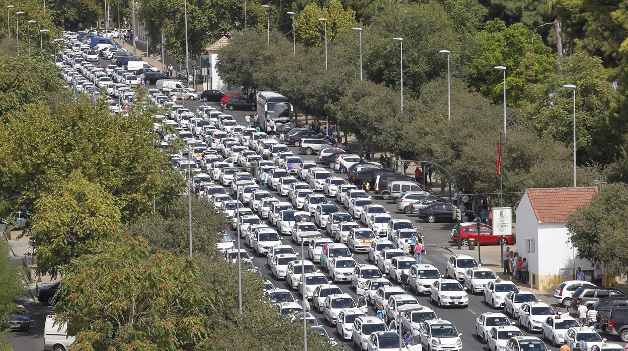
[[[529,188],[528,198],[539,223],[565,223],[576,208],[587,205],[597,186],[577,188]]]

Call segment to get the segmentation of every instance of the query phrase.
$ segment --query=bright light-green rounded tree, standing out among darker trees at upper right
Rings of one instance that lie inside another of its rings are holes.
[[[506,100],[517,105],[524,90],[544,82],[555,72],[551,49],[540,40],[531,47],[532,31],[521,23],[506,26],[499,20],[484,23],[468,63],[469,83],[482,95],[499,102],[503,98],[504,79],[495,66],[505,66]]]

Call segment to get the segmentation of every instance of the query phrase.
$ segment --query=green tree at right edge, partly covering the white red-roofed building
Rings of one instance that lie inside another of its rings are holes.
[[[601,262],[610,276],[628,276],[628,245],[625,212],[628,210],[628,186],[615,183],[605,186],[591,202],[577,208],[567,220],[571,242],[578,256],[590,262]]]

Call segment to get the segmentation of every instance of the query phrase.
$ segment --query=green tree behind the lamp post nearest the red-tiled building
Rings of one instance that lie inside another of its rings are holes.
[[[554,138],[567,147],[573,145],[573,96],[563,84],[576,89],[576,146],[580,164],[608,163],[617,156],[620,134],[608,121],[614,91],[607,71],[597,57],[575,53],[563,57],[562,69],[543,84],[531,87],[524,108],[539,133]]]

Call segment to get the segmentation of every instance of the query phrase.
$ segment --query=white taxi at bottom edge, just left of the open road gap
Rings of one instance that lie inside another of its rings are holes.
[[[426,320],[419,333],[421,347],[431,351],[461,351],[461,336],[452,322],[441,319]]]

